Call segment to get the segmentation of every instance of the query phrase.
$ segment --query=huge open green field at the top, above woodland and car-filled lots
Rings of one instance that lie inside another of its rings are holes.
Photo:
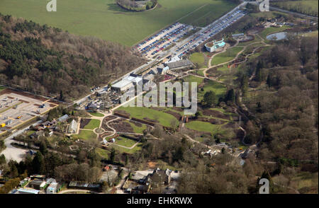
[[[159,0],[152,11],[130,12],[115,0],[63,0],[57,1],[56,12],[48,12],[47,2],[1,0],[0,12],[132,46],[176,21],[203,26],[236,6],[224,0]]]

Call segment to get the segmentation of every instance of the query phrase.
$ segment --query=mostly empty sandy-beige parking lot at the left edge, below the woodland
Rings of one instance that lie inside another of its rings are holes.
[[[33,117],[43,114],[57,106],[50,100],[36,99],[34,96],[6,90],[0,95],[1,130],[12,129]]]

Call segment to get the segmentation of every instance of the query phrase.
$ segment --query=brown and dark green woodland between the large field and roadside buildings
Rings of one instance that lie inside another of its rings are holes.
[[[77,98],[144,60],[128,47],[0,15],[0,83]]]

